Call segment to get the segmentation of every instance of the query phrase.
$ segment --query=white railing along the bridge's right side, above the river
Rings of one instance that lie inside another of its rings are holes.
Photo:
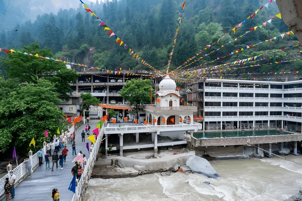
[[[90,152],[89,158],[87,160],[87,165],[85,165],[85,169],[82,173],[82,177],[81,179],[78,181],[77,187],[76,187],[76,193],[75,195],[72,197],[72,201],[82,201],[83,200],[83,196],[85,194],[85,191],[87,189],[88,186],[88,181],[91,177],[91,173],[93,170],[93,166],[95,163],[95,159],[96,159],[96,155],[98,154],[98,150],[100,148],[101,145],[101,141],[102,138],[104,136],[104,127],[106,127],[105,123],[101,129],[101,131],[99,132],[98,135],[98,139],[96,140],[93,148],[92,148],[92,152]]]

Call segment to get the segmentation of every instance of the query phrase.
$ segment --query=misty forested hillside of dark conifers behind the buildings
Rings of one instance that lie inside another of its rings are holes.
[[[88,1],[84,1],[84,3],[89,5],[89,8],[144,61],[158,70],[166,68],[183,0],[113,0],[110,2],[106,0],[106,3],[101,4],[92,4]],[[267,3],[269,3],[268,6],[262,7]],[[261,7],[262,9],[257,11],[254,16],[249,17]],[[271,23],[267,22],[278,13],[276,3],[270,2],[270,0],[187,1],[170,69],[173,70],[183,65],[196,53],[201,52],[200,50],[202,50],[202,54],[208,54],[221,45],[225,45],[213,54],[194,62],[190,68],[228,55],[236,49],[252,46],[290,31],[278,17],[272,19]],[[38,15],[34,22],[27,21],[25,24],[20,24],[18,31],[0,30],[0,48],[18,49],[23,45],[37,42],[41,47],[51,48],[56,58],[65,61],[68,58],[70,62],[109,70],[119,68],[149,70],[148,67],[130,56],[124,46],[116,44],[113,37],[109,38],[108,31],[104,31],[104,27],[98,26],[100,22],[95,21],[95,18],[90,15],[91,13],[86,12],[85,8],[60,10],[56,15]],[[245,19],[245,23],[234,33],[232,29]],[[263,23],[265,26],[250,30],[251,27]],[[247,31],[250,32],[239,37]],[[228,34],[219,43],[213,44],[225,33]],[[226,45],[237,37],[239,38],[236,41]],[[279,37],[245,52],[223,58],[220,62],[210,63],[210,65],[219,65],[221,61],[236,61],[257,56],[298,43],[292,34],[285,35],[283,39]],[[211,47],[204,49],[207,45],[211,45]],[[288,51],[291,51],[292,54]],[[298,58],[299,55],[295,53],[298,51],[297,49],[291,48],[288,51],[278,51],[267,56],[278,55],[279,60]],[[269,62],[272,61],[278,60],[273,58]],[[275,68],[297,70],[299,64],[295,62],[278,67],[272,65],[256,70],[259,72],[272,71]]]

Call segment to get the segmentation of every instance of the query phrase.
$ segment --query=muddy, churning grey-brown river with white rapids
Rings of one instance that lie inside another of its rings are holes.
[[[302,156],[286,158],[302,164]],[[284,200],[302,188],[302,166],[277,157],[210,163],[220,178],[156,173],[90,179],[84,200]]]

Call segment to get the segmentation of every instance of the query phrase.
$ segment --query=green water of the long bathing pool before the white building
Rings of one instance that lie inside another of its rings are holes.
[[[288,132],[282,132],[280,130],[246,130],[243,131],[206,131],[206,132],[194,132],[193,137],[197,139],[201,138],[213,138],[215,137],[248,137],[248,136],[266,136],[266,135],[288,135]]]

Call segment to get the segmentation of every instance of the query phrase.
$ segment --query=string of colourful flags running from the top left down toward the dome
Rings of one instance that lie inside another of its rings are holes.
[[[129,49],[130,55],[133,55],[132,57],[134,57],[139,63],[151,68],[154,72],[157,72],[155,68],[153,68],[149,63],[143,60],[131,48],[129,48],[128,45],[124,41],[122,41],[122,39],[120,39],[103,21],[101,21],[100,18],[84,2],[82,2],[82,0],[80,0],[80,2],[87,12],[91,12],[91,17],[96,17],[95,21],[100,21],[100,24],[98,26],[104,27],[104,31],[108,31],[107,35],[109,35],[109,38],[113,37],[117,44],[124,46],[124,49]]]

